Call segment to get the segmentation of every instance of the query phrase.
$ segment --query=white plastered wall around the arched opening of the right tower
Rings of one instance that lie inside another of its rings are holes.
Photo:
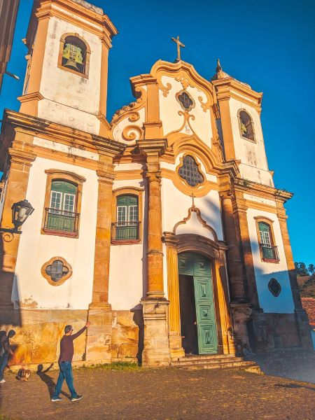
[[[230,113],[232,132],[235,144],[235,155],[237,160],[241,160],[239,166],[241,177],[262,183],[268,186],[274,186],[272,175],[269,173],[267,157],[265,152],[265,143],[262,135],[262,127],[258,112],[250,105],[230,98]],[[255,143],[241,137],[239,132],[239,120],[237,113],[244,109],[251,116],[255,130]]]

